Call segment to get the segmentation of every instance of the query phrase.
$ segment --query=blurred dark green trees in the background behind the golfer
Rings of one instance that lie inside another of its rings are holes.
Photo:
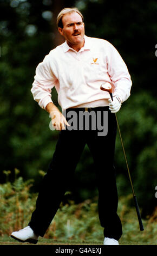
[[[77,7],[84,16],[86,35],[112,43],[132,77],[131,96],[117,118],[142,217],[151,215],[157,200],[156,1],[0,0],[0,4],[0,183],[8,181],[8,176],[14,181],[18,169],[23,180],[34,179],[33,193],[47,172],[58,131],[49,129],[49,114],[33,100],[30,89],[38,63],[64,41],[56,29],[58,13],[64,7]],[[52,99],[58,106],[55,88]],[[119,196],[127,197],[132,191],[118,133],[115,167]],[[69,190],[76,203],[97,195],[87,147]]]

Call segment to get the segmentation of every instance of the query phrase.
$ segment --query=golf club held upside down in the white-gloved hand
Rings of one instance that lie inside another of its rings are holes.
[[[107,83],[103,83],[103,84],[101,85],[100,89],[103,90],[104,92],[108,92],[108,93],[110,94],[110,97],[111,97],[112,101],[113,101],[112,86],[111,86],[110,83],[108,83],[108,82],[107,82]],[[116,117],[117,127],[118,127],[118,130],[119,130],[119,135],[120,135],[120,140],[121,140],[121,144],[122,144],[123,154],[124,154],[124,156],[125,156],[125,160],[126,160],[126,164],[127,164],[127,170],[128,170],[128,175],[129,175],[130,184],[131,184],[131,187],[132,187],[133,198],[134,198],[136,213],[137,213],[137,215],[138,215],[140,230],[143,231],[144,228],[143,228],[142,219],[141,219],[141,215],[140,215],[140,211],[139,211],[138,200],[137,200],[137,198],[136,198],[136,196],[135,196],[135,191],[134,191],[134,187],[133,187],[133,182],[132,182],[132,178],[131,178],[131,176],[130,176],[128,161],[127,161],[127,157],[126,157],[126,153],[125,153],[125,148],[124,148],[124,145],[123,145],[122,136],[121,136],[121,132],[120,132],[120,127],[119,127],[119,123],[118,123],[116,114],[115,114],[115,117]]]

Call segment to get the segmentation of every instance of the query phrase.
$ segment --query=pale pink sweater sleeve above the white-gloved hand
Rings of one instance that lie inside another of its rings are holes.
[[[119,97],[121,103],[130,96],[132,80],[127,66],[116,48],[109,44],[108,73],[113,83],[113,96]]]

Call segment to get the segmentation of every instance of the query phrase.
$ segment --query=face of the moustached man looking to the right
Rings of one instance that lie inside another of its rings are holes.
[[[63,28],[58,31],[67,40],[69,46],[84,44],[84,23],[80,14],[74,12],[62,17]]]

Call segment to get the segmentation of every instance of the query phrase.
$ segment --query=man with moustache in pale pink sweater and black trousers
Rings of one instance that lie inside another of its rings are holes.
[[[128,99],[132,81],[126,64],[112,44],[84,35],[83,16],[78,9],[64,8],[58,14],[57,26],[66,41],[50,51],[37,66],[31,92],[40,107],[51,115],[53,127],[60,131],[60,135],[29,225],[13,232],[11,237],[22,242],[37,243],[38,236],[44,236],[87,143],[95,163],[99,218],[104,228],[103,245],[119,245],[122,225],[116,213],[118,198],[114,169],[114,113]],[[102,83],[112,85],[113,101],[108,92],[100,90]],[[62,113],[51,100],[53,87],[57,90]],[[69,119],[71,111],[77,116],[75,129],[70,128],[73,128]],[[84,126],[82,129],[81,112],[95,114],[96,129],[92,129],[92,122],[89,129]],[[103,136],[97,133],[100,121],[104,125],[108,124]]]

